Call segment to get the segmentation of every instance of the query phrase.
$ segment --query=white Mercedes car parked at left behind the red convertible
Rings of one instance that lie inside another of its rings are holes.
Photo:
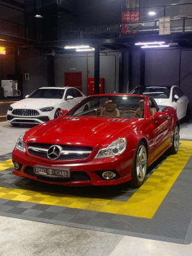
[[[19,124],[42,124],[60,116],[61,109],[70,110],[86,96],[74,87],[42,87],[26,99],[10,105],[7,122]]]

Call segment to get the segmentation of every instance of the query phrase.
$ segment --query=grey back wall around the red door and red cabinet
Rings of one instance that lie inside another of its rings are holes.
[[[94,77],[93,54],[73,54],[71,56],[55,57],[55,85],[64,86],[64,72],[68,68],[76,68],[76,72],[82,72],[83,93],[86,95],[87,68],[88,77]],[[118,52],[100,54],[100,77],[105,79],[105,92],[118,92]]]

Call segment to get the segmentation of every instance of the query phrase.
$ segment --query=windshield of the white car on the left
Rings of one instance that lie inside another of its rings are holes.
[[[64,92],[64,89],[37,89],[35,92],[32,92],[28,98],[62,99]]]

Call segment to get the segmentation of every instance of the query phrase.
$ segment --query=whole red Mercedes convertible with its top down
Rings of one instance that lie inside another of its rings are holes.
[[[175,109],[143,95],[100,94],[22,134],[13,174],[63,186],[141,186],[147,167],[179,149]]]

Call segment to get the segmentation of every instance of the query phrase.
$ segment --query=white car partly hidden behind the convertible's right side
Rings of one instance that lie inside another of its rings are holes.
[[[148,95],[156,100],[160,109],[164,106],[171,106],[177,110],[179,120],[189,122],[190,103],[189,99],[182,90],[176,85],[172,86],[137,86],[131,94]]]

